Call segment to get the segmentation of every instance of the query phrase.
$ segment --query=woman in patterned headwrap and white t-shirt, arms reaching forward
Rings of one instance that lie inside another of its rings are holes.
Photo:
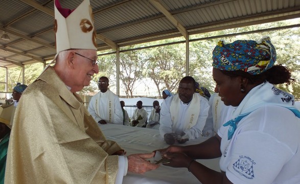
[[[215,91],[235,107],[232,120],[198,145],[163,150],[171,167],[186,167],[201,183],[300,183],[300,112],[294,97],[273,84],[293,81],[274,65],[270,38],[220,41],[213,51]],[[220,157],[220,170],[194,159]]]

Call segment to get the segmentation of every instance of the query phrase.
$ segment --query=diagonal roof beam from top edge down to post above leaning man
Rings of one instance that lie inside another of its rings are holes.
[[[181,23],[159,2],[159,0],[150,0],[150,3],[172,22],[184,38],[189,39],[186,28],[181,25]]]

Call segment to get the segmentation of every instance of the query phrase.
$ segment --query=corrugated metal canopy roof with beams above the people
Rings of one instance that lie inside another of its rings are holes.
[[[76,8],[82,0],[60,0]],[[300,0],[90,0],[98,50],[300,17]],[[0,1],[0,66],[54,58],[53,0]]]

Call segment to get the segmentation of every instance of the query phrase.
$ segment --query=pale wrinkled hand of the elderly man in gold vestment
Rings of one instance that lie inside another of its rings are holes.
[[[127,156],[128,159],[128,172],[143,174],[147,171],[157,169],[159,165],[151,164],[148,158],[152,158],[154,152],[146,154],[132,154]]]

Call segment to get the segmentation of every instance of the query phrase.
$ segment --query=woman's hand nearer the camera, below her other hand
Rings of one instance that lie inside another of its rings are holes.
[[[189,167],[190,162],[193,160],[184,153],[166,153],[164,156],[170,159],[170,163],[164,165],[175,168],[187,168]]]

